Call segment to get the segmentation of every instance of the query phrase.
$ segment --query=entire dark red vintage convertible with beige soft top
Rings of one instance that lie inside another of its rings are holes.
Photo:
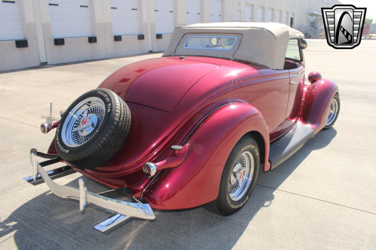
[[[59,119],[50,112],[41,130],[56,135],[47,153],[31,149],[33,176],[24,179],[79,200],[81,211],[112,212],[93,225],[102,232],[154,219],[153,209],[237,212],[260,167],[277,167],[338,117],[337,85],[318,72],[305,82],[303,38],[277,23],[176,28],[162,57],[118,69]],[[52,181],[76,171],[113,190]]]

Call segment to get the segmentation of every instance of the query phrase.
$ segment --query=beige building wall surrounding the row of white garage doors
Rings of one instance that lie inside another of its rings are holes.
[[[77,0],[78,1],[78,0]],[[90,59],[126,56],[150,51],[164,51],[171,34],[156,38],[154,2],[139,0],[140,25],[143,40],[137,35],[123,35],[122,41],[115,42],[112,33],[111,0],[91,0],[91,18],[96,43],[88,38],[64,38],[65,45],[54,45],[48,0],[20,0],[22,21],[27,48],[16,48],[15,41],[0,41],[0,71],[26,68],[41,64],[76,62]],[[189,0],[175,0],[175,26],[186,25],[186,3]],[[277,21],[277,11],[288,12],[288,24],[294,15],[293,26],[308,24],[309,13],[321,12],[321,7],[338,4],[337,0],[223,0],[223,21],[244,20],[245,5],[253,5],[253,21],[257,20],[258,6],[264,7],[264,21],[268,8],[273,9],[272,21]],[[202,0],[202,22],[211,22],[211,0]],[[312,14],[311,14],[312,15]]]

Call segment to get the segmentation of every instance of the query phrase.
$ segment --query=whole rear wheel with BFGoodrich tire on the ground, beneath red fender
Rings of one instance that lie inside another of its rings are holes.
[[[232,149],[223,169],[217,199],[203,207],[215,214],[228,216],[248,201],[260,166],[260,152],[252,136],[243,136]]]

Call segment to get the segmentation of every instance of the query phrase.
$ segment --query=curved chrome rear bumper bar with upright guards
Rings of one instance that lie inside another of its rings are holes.
[[[61,198],[70,198],[80,201],[80,210],[83,211],[86,204],[92,204],[105,211],[131,217],[153,220],[155,215],[149,204],[125,202],[112,199],[86,190],[83,180],[79,180],[79,188],[63,186],[52,181],[50,176],[42,168],[36,159],[36,149],[30,150],[30,163],[33,167],[34,176],[39,173],[44,179],[51,192]],[[86,203],[86,204],[85,204]]]

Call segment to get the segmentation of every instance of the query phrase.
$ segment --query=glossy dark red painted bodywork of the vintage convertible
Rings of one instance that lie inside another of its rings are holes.
[[[276,71],[186,56],[143,60],[118,69],[99,87],[127,102],[132,115],[129,136],[105,165],[76,170],[112,188],[131,188],[152,208],[183,209],[210,202],[218,195],[227,157],[244,134],[253,131],[262,139],[260,154],[267,171],[271,141],[295,122],[315,133],[326,124],[325,112],[337,85],[327,79],[304,85],[304,67],[293,69],[290,64],[289,70]],[[171,161],[171,145],[187,143],[190,150],[180,166],[161,170],[153,179],[144,176],[144,163]],[[53,143],[49,153],[56,153]]]

